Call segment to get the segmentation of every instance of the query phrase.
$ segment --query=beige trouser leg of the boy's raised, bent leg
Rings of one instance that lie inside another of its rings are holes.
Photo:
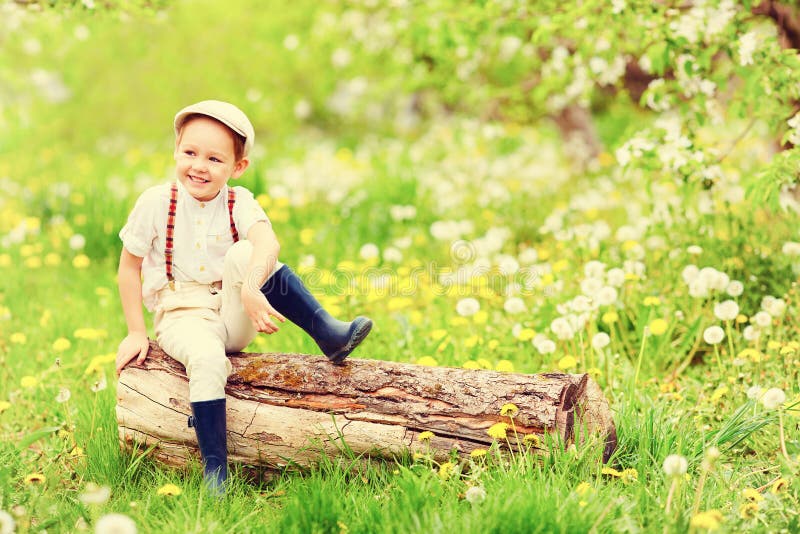
[[[222,272],[222,307],[220,316],[225,324],[227,340],[225,350],[238,352],[256,337],[256,329],[242,305],[242,284],[253,253],[253,245],[247,240],[234,243],[225,254],[225,267]],[[278,263],[275,268],[281,266]]]

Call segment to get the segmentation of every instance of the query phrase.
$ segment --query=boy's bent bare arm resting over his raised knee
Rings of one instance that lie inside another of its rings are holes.
[[[286,318],[267,301],[261,293],[261,286],[275,270],[281,246],[272,226],[265,221],[259,221],[250,227],[247,240],[253,244],[253,254],[242,284],[242,304],[256,330],[272,334],[278,331],[278,327],[270,316],[281,322],[286,321]]]

